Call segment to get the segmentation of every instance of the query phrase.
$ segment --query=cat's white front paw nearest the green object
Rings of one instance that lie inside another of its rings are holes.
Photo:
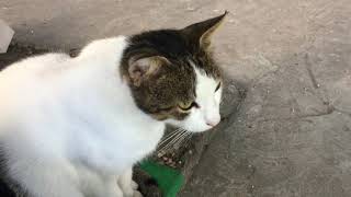
[[[118,176],[118,185],[123,194],[127,197],[143,197],[143,195],[137,190],[138,184],[132,179],[132,167]]]

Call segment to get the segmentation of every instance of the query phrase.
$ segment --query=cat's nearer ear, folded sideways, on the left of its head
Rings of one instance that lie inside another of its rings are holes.
[[[151,56],[144,58],[131,58],[128,67],[128,73],[132,83],[135,86],[139,86],[144,79],[157,73],[166,63],[169,63],[168,59],[161,56]]]

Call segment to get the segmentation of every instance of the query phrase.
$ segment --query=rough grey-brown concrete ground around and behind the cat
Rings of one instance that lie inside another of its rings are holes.
[[[16,42],[64,50],[224,10],[216,55],[247,99],[180,196],[351,196],[350,0],[0,1]]]

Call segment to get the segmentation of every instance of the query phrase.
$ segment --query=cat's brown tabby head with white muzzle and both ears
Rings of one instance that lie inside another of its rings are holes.
[[[121,73],[143,112],[194,132],[220,121],[222,74],[210,47],[226,13],[182,30],[129,37]]]

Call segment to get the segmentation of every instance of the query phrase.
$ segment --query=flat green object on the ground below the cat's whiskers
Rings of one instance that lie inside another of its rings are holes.
[[[177,197],[184,184],[184,176],[169,166],[145,161],[140,167],[157,181],[165,197]]]

